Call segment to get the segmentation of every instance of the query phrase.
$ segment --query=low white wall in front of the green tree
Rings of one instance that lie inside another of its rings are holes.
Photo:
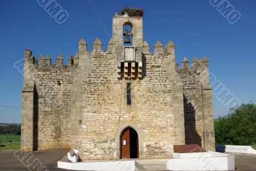
[[[247,145],[216,145],[216,151],[256,154],[256,150]]]

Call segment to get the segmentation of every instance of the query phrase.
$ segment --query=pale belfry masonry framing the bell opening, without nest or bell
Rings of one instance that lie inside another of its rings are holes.
[[[132,31],[132,46],[124,46],[124,26],[129,24],[131,26]],[[113,17],[113,42],[115,43],[115,50],[116,50],[116,58],[118,62],[118,74],[119,77],[135,77],[135,69],[134,73],[127,74],[121,73],[122,67],[128,68],[131,65],[131,68],[138,68],[136,69],[136,73],[138,73],[138,77],[141,77],[141,67],[142,67],[142,47],[143,47],[143,17],[130,17],[125,13],[125,15],[118,15],[115,14]],[[132,49],[131,49],[132,48]],[[127,54],[133,54],[133,56],[127,56]],[[122,66],[124,63],[124,66]],[[131,64],[129,64],[131,63]]]

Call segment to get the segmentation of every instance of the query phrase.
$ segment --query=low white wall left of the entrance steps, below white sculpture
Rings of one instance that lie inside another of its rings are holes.
[[[68,170],[134,171],[135,161],[93,161],[77,163],[58,161],[58,168]]]

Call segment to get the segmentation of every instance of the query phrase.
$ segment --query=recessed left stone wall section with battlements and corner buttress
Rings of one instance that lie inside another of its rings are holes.
[[[56,64],[51,64],[49,55],[41,55],[37,63],[31,51],[26,52],[29,55],[25,56],[22,91],[22,149],[70,148],[70,87],[77,65],[63,65],[61,55]],[[29,139],[28,145],[23,143]]]

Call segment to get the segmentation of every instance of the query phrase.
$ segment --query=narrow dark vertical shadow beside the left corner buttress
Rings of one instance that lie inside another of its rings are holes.
[[[38,150],[38,93],[34,86],[34,108],[33,108],[33,151]]]

